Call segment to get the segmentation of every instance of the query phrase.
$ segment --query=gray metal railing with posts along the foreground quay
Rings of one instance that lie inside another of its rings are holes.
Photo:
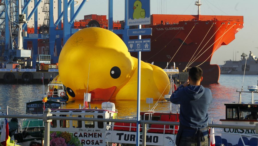
[[[49,146],[50,142],[50,122],[52,120],[74,120],[74,121],[97,121],[97,122],[118,122],[118,123],[137,123],[137,120],[124,120],[124,119],[97,119],[97,118],[81,118],[81,117],[57,117],[50,114],[50,108],[46,108],[43,115],[0,115],[0,118],[18,118],[18,119],[43,119],[44,129],[44,146]],[[167,121],[148,121],[140,120],[138,123],[142,124],[142,146],[146,146],[146,124],[163,124],[163,125],[179,125],[179,122]],[[258,123],[255,126],[242,126],[242,125],[221,125],[221,124],[208,124],[212,128],[235,128],[235,129],[248,129],[255,130],[258,133]],[[137,129],[139,130],[139,129]]]

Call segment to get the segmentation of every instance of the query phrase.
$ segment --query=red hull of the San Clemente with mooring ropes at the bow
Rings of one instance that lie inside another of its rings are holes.
[[[175,15],[170,15],[172,16]],[[212,55],[222,45],[227,45],[235,39],[235,34],[243,28],[243,17],[231,16],[234,17],[232,21],[191,21],[196,20],[194,18],[197,16],[177,15],[177,19],[180,19],[180,16],[189,17],[190,21],[147,26],[153,29],[152,35],[142,36],[142,39],[151,39],[151,51],[141,53],[142,61],[154,62],[154,65],[163,69],[170,69],[175,62],[179,71],[200,66],[204,72],[203,82],[218,82],[220,68],[216,64],[210,64]],[[135,52],[131,55],[137,57]]]

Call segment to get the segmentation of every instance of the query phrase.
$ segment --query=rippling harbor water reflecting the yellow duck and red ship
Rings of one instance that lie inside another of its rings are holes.
[[[212,104],[208,109],[209,122],[213,119],[214,124],[221,124],[220,119],[225,119],[225,106],[222,103],[238,102],[239,93],[236,90],[247,91],[248,85],[257,85],[258,75],[226,75],[221,74],[218,84],[206,84],[205,87],[212,91]],[[45,88],[47,84],[45,83]],[[6,113],[6,108],[9,106],[9,114],[25,114],[26,102],[29,100],[42,100],[42,84],[0,84],[0,107],[3,113]],[[130,95],[128,95],[130,96]],[[183,97],[182,97],[183,98]],[[258,95],[254,94],[254,100],[258,100]],[[242,94],[242,102],[251,101],[251,94]],[[136,100],[114,100],[116,109],[118,109],[119,119],[125,117],[136,117],[137,101]],[[92,101],[91,108],[101,108],[102,101]],[[150,108],[154,106],[150,104]],[[66,108],[79,108],[79,104],[83,105],[82,100],[73,100],[69,98]],[[149,104],[146,101],[140,102],[140,110],[148,111]],[[179,112],[179,106],[172,104],[172,112]],[[160,104],[154,111],[169,112],[169,104]]]

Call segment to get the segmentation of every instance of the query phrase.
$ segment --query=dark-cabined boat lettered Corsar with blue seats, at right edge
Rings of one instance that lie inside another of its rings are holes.
[[[257,87],[248,86],[249,91],[243,91],[243,88],[241,91],[236,90],[239,92],[239,102],[224,103],[226,116],[225,119],[220,119],[222,125],[255,126],[258,123],[258,100],[254,100],[254,93],[258,93]],[[251,93],[251,101],[244,103],[241,101],[242,95],[247,93]],[[221,137],[215,136],[215,141],[216,144],[224,145],[257,146],[258,133],[255,130],[224,128]]]

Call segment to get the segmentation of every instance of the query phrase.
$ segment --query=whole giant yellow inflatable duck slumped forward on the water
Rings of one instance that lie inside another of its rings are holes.
[[[74,99],[83,99],[88,92],[91,100],[137,100],[137,61],[115,33],[89,27],[65,43],[58,61],[59,77]],[[140,99],[164,99],[169,89],[167,74],[141,61]]]

